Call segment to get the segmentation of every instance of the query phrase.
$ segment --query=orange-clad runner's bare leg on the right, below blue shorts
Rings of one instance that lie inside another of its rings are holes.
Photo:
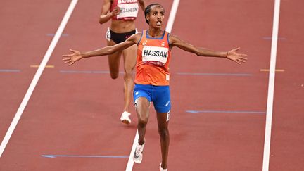
[[[167,168],[167,156],[169,153],[169,121],[167,121],[167,113],[157,113],[158,133],[160,134],[160,147],[162,153],[162,165],[164,169]]]

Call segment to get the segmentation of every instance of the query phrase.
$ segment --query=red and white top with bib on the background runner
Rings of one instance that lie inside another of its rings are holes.
[[[139,11],[137,0],[113,0],[110,6],[110,11],[118,6],[120,13],[114,16],[113,20],[135,20]]]

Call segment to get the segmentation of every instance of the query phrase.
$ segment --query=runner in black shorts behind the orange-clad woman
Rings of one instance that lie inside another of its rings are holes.
[[[103,24],[111,20],[110,27],[106,32],[108,46],[124,42],[128,37],[137,32],[134,20],[140,8],[144,11],[146,1],[144,0],[104,0],[101,9],[99,23]],[[108,56],[108,65],[110,68],[110,77],[118,78],[120,68],[120,57],[124,60],[124,107],[120,120],[129,124],[129,104],[132,101],[133,77],[132,71],[137,56],[137,46],[130,46],[127,49],[116,51]]]

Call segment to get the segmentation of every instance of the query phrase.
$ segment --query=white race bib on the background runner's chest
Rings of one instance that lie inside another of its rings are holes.
[[[117,18],[136,18],[139,11],[139,6],[137,3],[133,4],[118,4],[120,7],[120,13],[117,15]]]

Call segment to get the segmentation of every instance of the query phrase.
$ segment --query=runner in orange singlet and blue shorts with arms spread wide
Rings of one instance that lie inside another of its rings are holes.
[[[121,51],[129,46],[137,44],[137,74],[134,87],[134,104],[137,111],[137,129],[139,132],[139,141],[134,152],[134,162],[141,163],[142,151],[145,144],[146,125],[149,118],[150,103],[156,110],[158,120],[158,132],[160,134],[160,146],[162,161],[160,170],[167,170],[167,156],[169,149],[169,130],[170,120],[170,73],[168,65],[170,63],[171,49],[177,46],[179,49],[195,53],[198,56],[211,56],[226,58],[236,63],[246,62],[246,54],[236,53],[239,48],[230,51],[212,51],[188,44],[177,36],[161,30],[163,25],[165,11],[160,4],[151,4],[145,9],[145,18],[149,27],[148,30],[133,34],[125,42],[106,46],[94,51],[80,52],[70,49],[72,54],[63,55],[63,61],[72,65],[82,58],[92,56],[104,56],[115,51]]]

